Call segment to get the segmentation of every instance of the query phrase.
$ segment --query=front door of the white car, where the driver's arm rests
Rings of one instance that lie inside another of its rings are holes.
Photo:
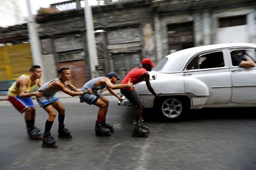
[[[235,57],[237,58],[247,58],[249,60],[256,61],[255,50],[255,48],[229,49],[229,54],[233,51],[236,53]],[[236,64],[233,64],[232,62],[230,63],[230,73],[232,77],[231,101],[233,103],[256,103],[256,67],[246,68],[233,66]]]

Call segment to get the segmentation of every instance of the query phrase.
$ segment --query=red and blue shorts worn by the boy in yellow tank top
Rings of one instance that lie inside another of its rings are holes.
[[[20,113],[23,113],[29,107],[35,107],[30,97],[22,99],[20,96],[9,96],[7,99]]]

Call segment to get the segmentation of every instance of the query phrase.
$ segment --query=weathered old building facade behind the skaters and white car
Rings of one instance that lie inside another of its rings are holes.
[[[114,71],[124,78],[144,58],[157,64],[185,48],[256,43],[254,0],[134,0],[93,6],[92,15],[95,31],[101,30],[95,38],[102,76]],[[56,76],[53,72],[66,65],[72,83],[82,87],[92,78],[84,9],[39,14],[36,21],[47,74]],[[9,38],[11,34],[9,30]],[[0,43],[4,35],[0,33]]]

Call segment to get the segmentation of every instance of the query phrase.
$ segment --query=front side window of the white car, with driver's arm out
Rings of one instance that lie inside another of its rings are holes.
[[[238,66],[241,61],[256,61],[256,49],[236,49],[230,50],[233,66]]]

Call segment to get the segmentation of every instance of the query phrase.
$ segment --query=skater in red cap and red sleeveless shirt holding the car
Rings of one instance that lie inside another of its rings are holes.
[[[126,84],[128,80],[130,79],[130,82],[133,84],[137,84],[145,79],[148,90],[155,96],[159,97],[159,94],[156,93],[154,89],[151,87],[151,84],[149,82],[149,73],[148,71],[151,71],[153,67],[156,65],[153,64],[152,60],[149,58],[146,58],[142,60],[142,67],[136,67],[131,69],[131,71],[125,76],[124,80],[121,82],[121,84]],[[132,127],[132,136],[136,137],[148,137],[148,133],[150,132],[148,130],[148,127],[145,126],[142,123],[142,111],[144,108],[144,102],[141,101],[139,94],[135,91],[135,88],[122,88],[120,89],[121,93],[124,94],[124,96],[133,104],[137,106],[137,110],[135,111],[135,118],[133,121],[133,127]]]

